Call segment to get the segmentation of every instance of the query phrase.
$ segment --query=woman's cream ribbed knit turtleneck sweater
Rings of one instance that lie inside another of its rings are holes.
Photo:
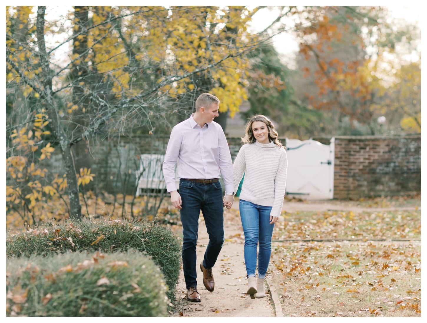
[[[270,215],[280,217],[286,189],[288,160],[284,148],[275,143],[244,144],[233,164],[234,192],[243,179],[240,199],[272,207]]]

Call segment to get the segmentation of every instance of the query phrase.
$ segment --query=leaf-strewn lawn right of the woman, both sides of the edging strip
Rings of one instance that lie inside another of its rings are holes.
[[[282,214],[267,278],[284,316],[421,317],[421,199],[361,202]]]

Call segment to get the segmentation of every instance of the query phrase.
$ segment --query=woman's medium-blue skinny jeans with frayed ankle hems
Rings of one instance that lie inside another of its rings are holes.
[[[258,277],[264,278],[271,256],[271,237],[274,224],[270,224],[272,207],[265,207],[245,200],[240,200],[239,210],[245,234],[245,264],[247,276],[255,276],[258,253]]]

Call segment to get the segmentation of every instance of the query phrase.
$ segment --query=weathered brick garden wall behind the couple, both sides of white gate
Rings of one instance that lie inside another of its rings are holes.
[[[329,144],[330,138],[313,138]],[[140,154],[164,154],[169,137],[141,136],[132,140],[101,141],[93,155],[96,190],[126,192],[135,189]],[[240,138],[227,138],[234,158]],[[285,138],[281,138],[282,144]],[[53,172],[63,172],[61,154],[53,156]],[[421,193],[421,135],[399,137],[335,137],[334,198],[358,199]]]

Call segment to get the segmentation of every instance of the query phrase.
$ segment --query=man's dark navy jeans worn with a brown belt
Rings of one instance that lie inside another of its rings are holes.
[[[203,257],[203,267],[215,265],[222,244],[224,243],[224,209],[222,204],[222,187],[215,183],[197,183],[191,180],[179,180],[181,195],[182,223],[182,266],[187,289],[197,287],[196,245],[199,232],[199,215],[202,211],[209,235],[208,247]]]

